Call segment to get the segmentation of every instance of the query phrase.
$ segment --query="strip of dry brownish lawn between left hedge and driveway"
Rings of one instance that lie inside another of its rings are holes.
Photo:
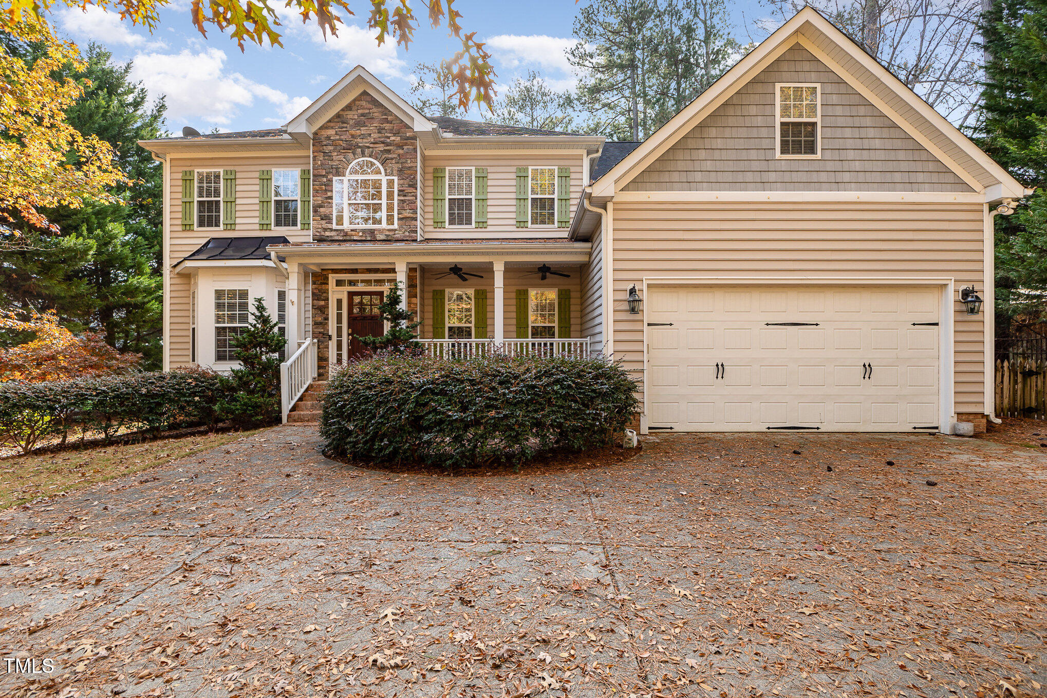
[[[203,434],[0,458],[0,509],[137,473],[253,433]]]

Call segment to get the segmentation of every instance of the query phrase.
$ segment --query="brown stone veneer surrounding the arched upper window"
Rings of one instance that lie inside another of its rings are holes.
[[[397,178],[395,227],[334,227],[334,178],[360,157],[378,160]],[[313,240],[417,240],[418,138],[411,127],[367,92],[313,133]]]

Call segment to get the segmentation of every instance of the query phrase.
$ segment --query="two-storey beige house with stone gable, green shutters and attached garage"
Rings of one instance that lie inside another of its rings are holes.
[[[993,216],[1026,192],[809,7],[640,144],[428,117],[357,67],[282,128],[141,145],[165,368],[232,365],[264,297],[322,378],[399,281],[430,351],[621,358],[644,431],[992,416]]]

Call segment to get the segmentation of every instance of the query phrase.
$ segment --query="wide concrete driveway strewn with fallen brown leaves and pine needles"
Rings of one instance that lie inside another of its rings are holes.
[[[281,427],[2,512],[0,656],[55,669],[0,695],[1047,695],[1041,450],[659,439],[448,478]]]

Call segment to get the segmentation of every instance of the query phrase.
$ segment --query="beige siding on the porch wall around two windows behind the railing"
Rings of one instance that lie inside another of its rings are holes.
[[[529,276],[541,264],[536,261],[534,266],[507,266],[505,275],[505,300],[506,300],[506,325],[505,337],[515,340],[516,337],[516,289],[517,288],[569,288],[571,289],[571,339],[581,339],[581,269],[577,264],[550,264],[557,271],[570,274],[570,279],[560,277],[550,277],[545,281],[537,275]],[[446,267],[425,267],[422,275],[422,286],[425,291],[422,293],[422,337],[432,337],[432,289],[433,288],[486,288],[487,289],[487,333],[494,336],[494,271],[490,268],[480,267],[466,269],[473,274],[484,275],[483,279],[470,279],[468,282],[459,281],[455,277],[437,279],[444,274]],[[481,337],[476,337],[481,339]]]

